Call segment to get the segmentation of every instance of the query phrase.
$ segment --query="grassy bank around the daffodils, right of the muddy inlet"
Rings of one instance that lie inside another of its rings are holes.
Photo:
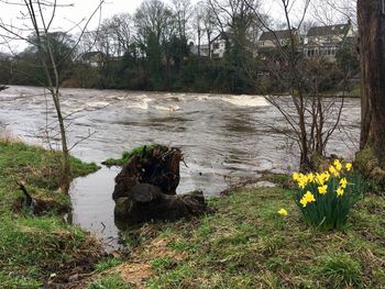
[[[211,201],[215,214],[125,234],[130,256],[103,262],[89,288],[385,286],[384,199],[366,196],[345,232],[322,233],[301,222],[293,198],[280,188],[239,189]]]

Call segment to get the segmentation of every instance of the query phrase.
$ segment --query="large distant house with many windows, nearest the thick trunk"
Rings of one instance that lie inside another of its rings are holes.
[[[346,24],[314,26],[304,42],[304,55],[308,58],[324,57],[336,60],[336,54],[346,43],[354,42],[351,22]]]

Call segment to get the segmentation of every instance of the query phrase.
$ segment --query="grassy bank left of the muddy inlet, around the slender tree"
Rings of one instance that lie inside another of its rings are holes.
[[[96,241],[63,221],[70,200],[58,191],[59,157],[57,152],[0,138],[1,288],[54,287],[89,270],[99,257]],[[98,169],[76,158],[72,164],[73,177]],[[16,181],[23,181],[32,197],[47,204],[48,210],[35,216],[24,208]]]

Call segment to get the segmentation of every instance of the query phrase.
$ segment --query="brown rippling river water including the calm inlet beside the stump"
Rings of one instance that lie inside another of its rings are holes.
[[[178,146],[187,164],[180,168],[179,193],[201,189],[208,197],[218,196],[263,170],[297,168],[296,144],[270,129],[286,129],[284,118],[260,96],[91,89],[63,89],[62,93],[69,143],[92,133],[73,148],[73,155],[100,165],[146,143]],[[55,126],[55,112],[42,88],[13,86],[0,92],[0,126],[12,136],[47,146],[42,132],[46,124]],[[328,153],[352,157],[359,133],[360,101],[346,99]],[[70,189],[72,222],[112,247],[119,232],[111,198],[118,173],[119,168],[102,166],[96,174],[75,179]]]

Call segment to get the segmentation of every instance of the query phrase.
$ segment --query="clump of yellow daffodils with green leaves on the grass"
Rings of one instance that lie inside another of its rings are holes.
[[[352,164],[339,159],[322,173],[294,173],[293,179],[298,186],[296,202],[305,221],[323,230],[342,229],[350,209],[364,190]]]

